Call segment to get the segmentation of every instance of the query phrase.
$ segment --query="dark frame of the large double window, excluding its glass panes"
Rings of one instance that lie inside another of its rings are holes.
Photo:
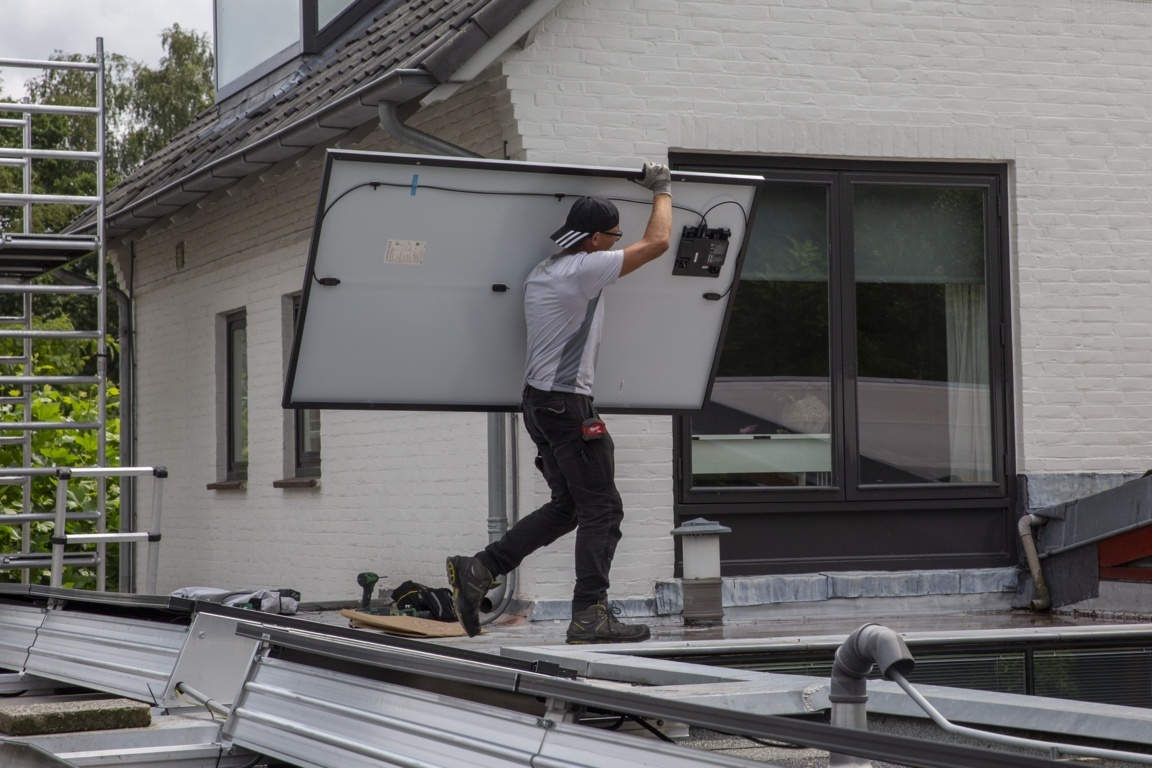
[[[772,502],[773,509],[866,510],[877,504],[910,505],[925,501],[969,505],[1002,504],[1015,496],[1007,215],[1008,168],[1003,164],[912,161],[829,161],[756,155],[673,153],[673,167],[683,170],[755,173],[771,183],[812,183],[828,190],[829,396],[833,485],[813,487],[694,487],[691,417],[674,419],[674,462],[677,505],[737,509],[738,504]],[[987,190],[985,211],[985,274],[988,304],[990,396],[993,482],[856,485],[859,447],[856,426],[856,306],[852,276],[851,190],[859,183],[912,185],[979,185]],[[726,327],[727,332],[727,327]],[[778,507],[779,505],[779,507]],[[697,511],[684,514],[695,515]]]

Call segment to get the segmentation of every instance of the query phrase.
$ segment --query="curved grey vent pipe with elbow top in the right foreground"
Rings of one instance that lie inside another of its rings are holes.
[[[867,674],[872,666],[888,677],[893,670],[902,675],[912,671],[916,660],[904,639],[880,624],[864,624],[836,648],[832,664],[832,724],[840,728],[867,730]],[[832,753],[828,766],[836,768],[871,768],[872,761],[855,755]]]

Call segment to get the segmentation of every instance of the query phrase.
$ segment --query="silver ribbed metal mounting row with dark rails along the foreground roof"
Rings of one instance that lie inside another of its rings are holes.
[[[1062,765],[669,700],[645,694],[643,686],[573,679],[555,664],[166,596],[8,585],[0,588],[0,667],[24,679],[149,701],[166,716],[188,715],[194,701],[211,701],[214,712],[226,714],[189,722],[195,732],[149,731],[147,739],[165,732],[198,739],[187,760],[172,756],[177,752],[172,745],[142,746],[142,732],[115,733],[101,746],[100,765],[112,766],[238,768],[258,754],[308,768],[766,765],[579,724],[589,712],[923,768]],[[192,691],[199,694],[192,700],[181,695]],[[205,742],[206,724],[215,730]],[[56,738],[23,740],[60,745],[53,752],[65,760],[75,753],[67,750],[81,750],[76,739]],[[145,753],[154,761],[143,762]]]

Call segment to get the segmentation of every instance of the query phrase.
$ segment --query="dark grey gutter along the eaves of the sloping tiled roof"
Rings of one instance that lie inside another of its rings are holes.
[[[378,105],[381,101],[404,104],[418,99],[438,85],[440,81],[423,69],[393,69],[384,77],[346,93],[323,109],[302,116],[255,144],[223,154],[192,174],[173,180],[111,213],[107,218],[108,235],[123,236],[139,229],[142,221],[146,225],[170,215],[179,208],[167,210],[158,201],[161,198],[172,199],[168,196],[175,191],[206,197],[212,191],[376,120]],[[259,160],[253,160],[253,157],[259,157]],[[192,198],[184,205],[198,198]]]

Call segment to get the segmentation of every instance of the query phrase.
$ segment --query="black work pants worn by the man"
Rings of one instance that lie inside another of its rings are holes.
[[[608,595],[608,571],[624,518],[614,477],[615,446],[607,433],[584,439],[581,425],[597,417],[586,395],[525,387],[523,410],[524,427],[536,443],[536,465],[552,499],[477,557],[493,573],[507,573],[528,555],[575,530],[575,613]]]

